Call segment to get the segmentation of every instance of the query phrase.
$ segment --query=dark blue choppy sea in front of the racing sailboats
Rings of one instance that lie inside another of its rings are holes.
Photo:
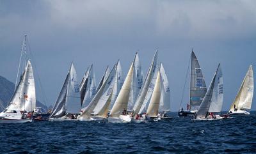
[[[256,112],[222,121],[0,125],[0,153],[256,153]]]

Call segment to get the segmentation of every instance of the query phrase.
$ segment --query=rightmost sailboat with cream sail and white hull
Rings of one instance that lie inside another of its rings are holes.
[[[250,65],[228,114],[250,114],[253,98],[253,70]]]

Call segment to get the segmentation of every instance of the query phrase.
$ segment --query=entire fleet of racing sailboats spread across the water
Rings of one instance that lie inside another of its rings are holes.
[[[25,55],[24,72],[16,82],[15,91],[6,109],[0,113],[0,123],[32,121],[36,111],[36,88],[31,61],[26,58],[26,35],[22,45]],[[22,56],[20,57],[20,59]],[[227,114],[220,116],[223,105],[223,74],[220,64],[207,89],[202,68],[195,52],[191,52],[189,104],[179,116],[194,116],[193,120],[218,120],[232,114],[250,114],[253,100],[253,69],[250,65],[237,96]],[[188,68],[189,69],[189,68]],[[19,66],[20,70],[20,66]],[[18,70],[18,73],[19,73]],[[158,51],[144,77],[138,52],[124,80],[120,60],[109,70],[107,66],[98,85],[93,65],[87,68],[81,82],[71,63],[60,94],[52,107],[50,121],[103,121],[109,123],[141,123],[170,119],[170,86],[163,63],[158,63]]]

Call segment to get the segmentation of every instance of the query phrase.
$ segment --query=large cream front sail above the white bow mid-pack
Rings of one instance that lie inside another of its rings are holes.
[[[124,111],[124,109],[127,110],[133,70],[134,70],[134,62],[132,62],[132,65],[129,69],[129,72],[127,73],[124,84],[122,86],[122,89],[120,90],[120,93],[116,98],[115,104],[111,109],[111,112],[109,114],[109,116],[111,117],[118,118],[122,114],[122,111]]]

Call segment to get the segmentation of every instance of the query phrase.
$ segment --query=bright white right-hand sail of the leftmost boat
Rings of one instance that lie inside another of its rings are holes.
[[[24,80],[22,82],[20,91],[21,110],[31,112],[36,107],[36,91],[33,68],[30,61],[27,63]]]

